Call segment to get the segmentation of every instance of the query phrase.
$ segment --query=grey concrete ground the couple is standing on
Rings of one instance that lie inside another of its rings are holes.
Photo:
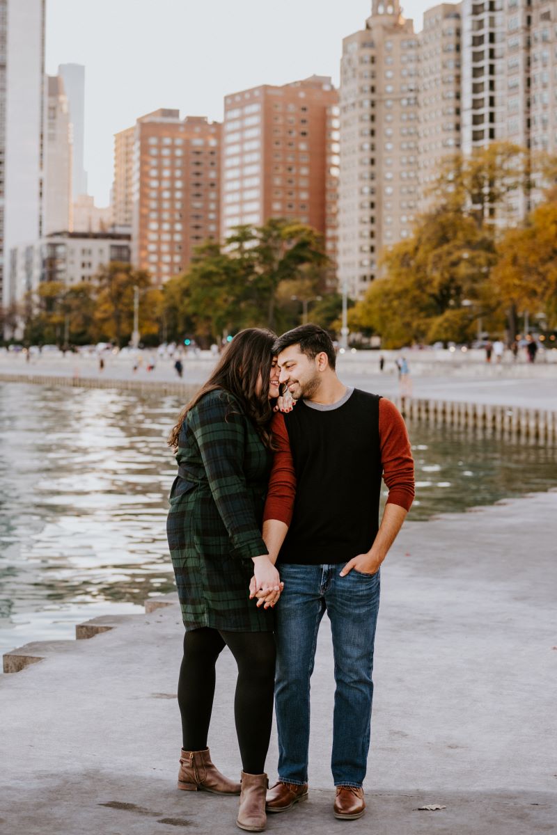
[[[270,816],[269,832],[557,832],[556,516],[549,492],[404,527],[382,569],[367,814],[350,825],[332,817],[325,619],[312,679],[310,800]],[[237,831],[237,798],[175,789],[177,605],[119,620],[0,677],[2,832]],[[217,681],[210,746],[234,776],[226,651]],[[276,756],[273,736],[271,779]],[[418,811],[427,804],[446,808]]]

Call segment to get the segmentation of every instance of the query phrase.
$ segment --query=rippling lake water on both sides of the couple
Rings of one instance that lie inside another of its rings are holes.
[[[176,397],[0,383],[0,654],[174,590]],[[410,426],[410,519],[554,487],[557,448]]]

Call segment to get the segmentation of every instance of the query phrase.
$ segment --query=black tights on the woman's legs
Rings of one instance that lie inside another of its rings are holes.
[[[241,761],[248,774],[262,774],[271,739],[275,639],[271,632],[222,632],[204,627],[186,632],[178,680],[183,748],[207,747],[215,696],[215,664],[228,646],[238,665],[234,716]]]

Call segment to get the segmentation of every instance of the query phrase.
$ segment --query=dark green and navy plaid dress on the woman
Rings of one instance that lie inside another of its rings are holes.
[[[166,524],[186,630],[260,632],[272,611],[249,600],[251,557],[266,554],[261,524],[272,453],[241,404],[208,392],[180,433]]]

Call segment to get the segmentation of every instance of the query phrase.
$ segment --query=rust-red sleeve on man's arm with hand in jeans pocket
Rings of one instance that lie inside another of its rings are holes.
[[[382,397],[379,402],[379,442],[387,504],[409,510],[414,498],[414,461],[406,423],[397,407]]]

